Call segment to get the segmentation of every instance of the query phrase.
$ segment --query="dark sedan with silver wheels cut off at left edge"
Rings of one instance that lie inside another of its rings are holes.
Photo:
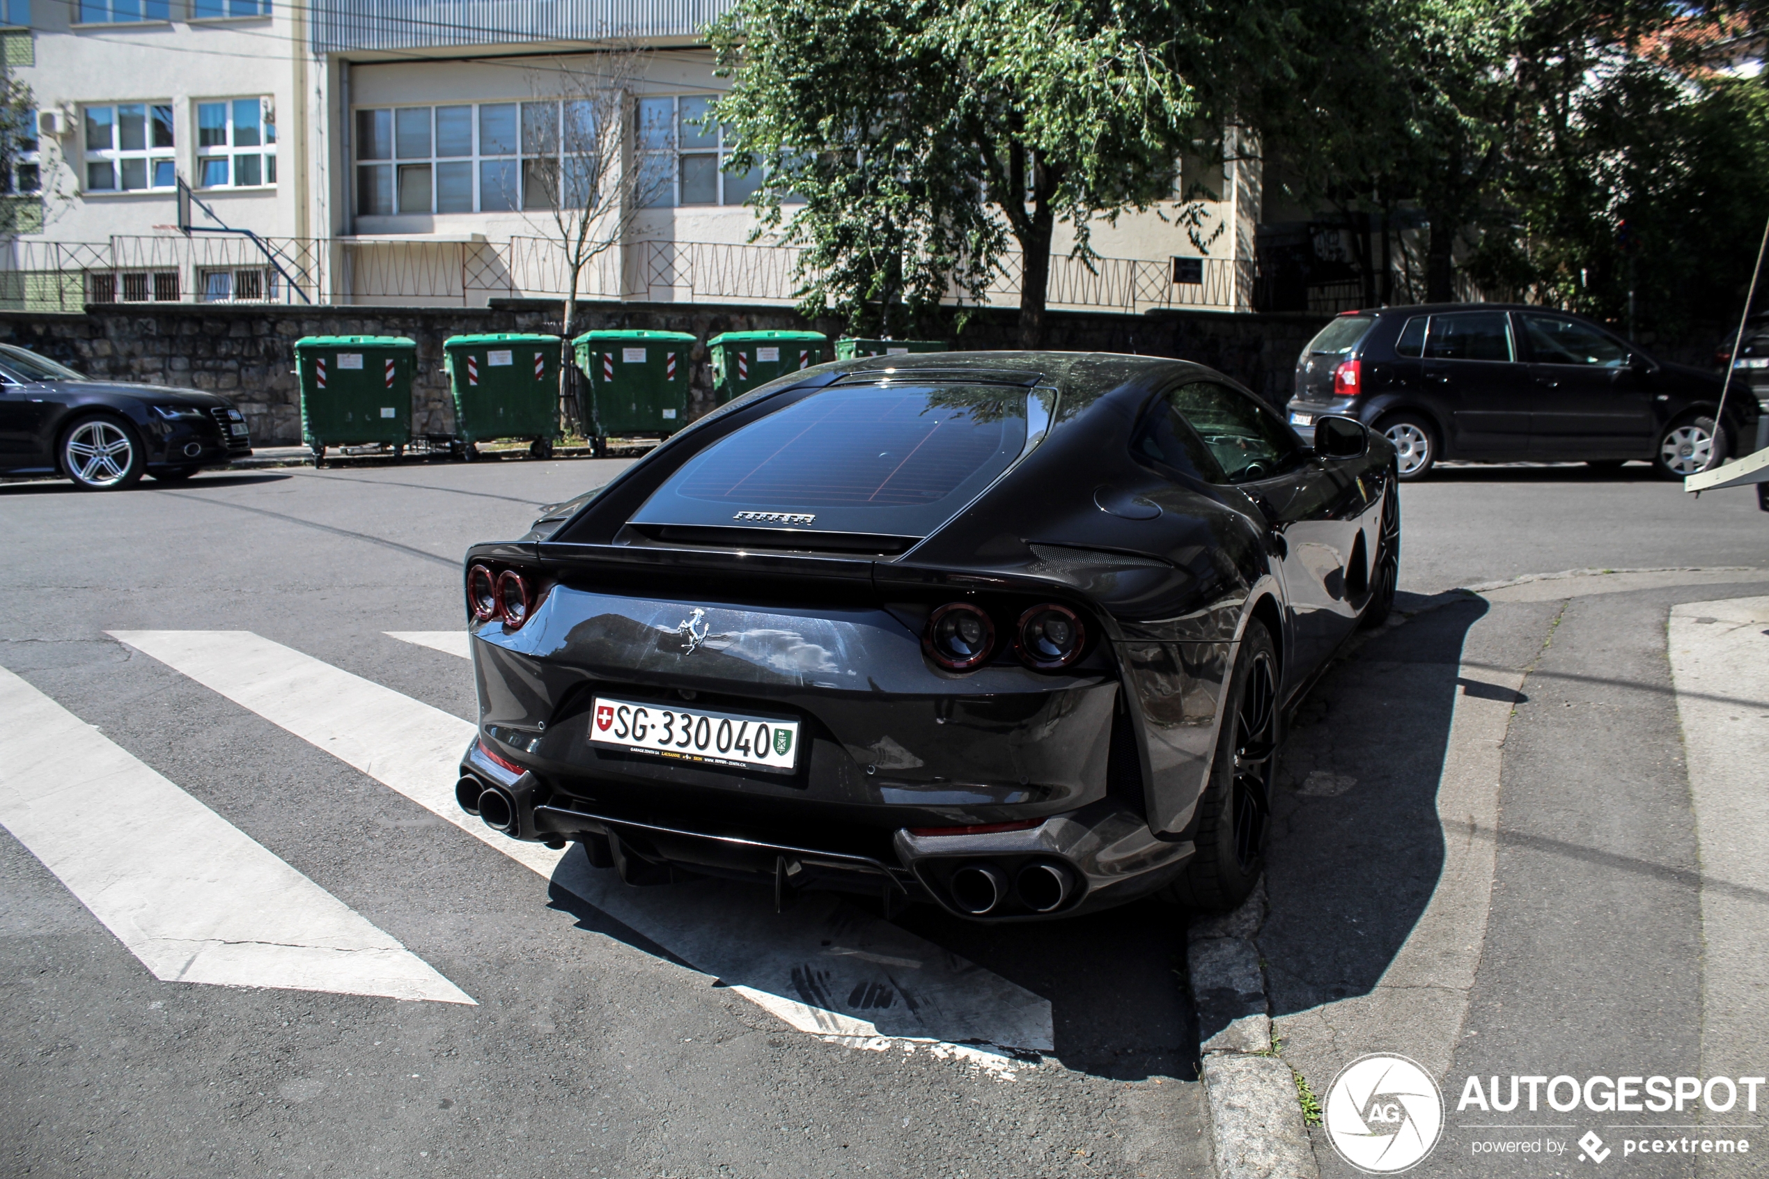
[[[246,419],[196,389],[94,380],[0,345],[0,475],[67,475],[87,491],[189,479],[251,454]]]

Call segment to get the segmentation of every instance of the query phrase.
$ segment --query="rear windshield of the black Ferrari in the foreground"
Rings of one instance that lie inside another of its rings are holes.
[[[1026,398],[1001,385],[824,389],[688,460],[633,523],[927,536],[1024,449]]]

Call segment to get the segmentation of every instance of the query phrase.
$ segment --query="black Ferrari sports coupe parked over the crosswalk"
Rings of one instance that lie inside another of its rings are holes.
[[[762,385],[469,550],[458,801],[630,884],[1233,907],[1290,709],[1394,599],[1394,449],[1314,437],[1152,357]]]

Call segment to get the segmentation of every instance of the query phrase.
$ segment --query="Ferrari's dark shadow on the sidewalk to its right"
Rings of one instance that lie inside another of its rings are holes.
[[[1461,679],[1463,640],[1486,601],[1444,599],[1364,642],[1298,709],[1272,801],[1270,917],[1258,937],[1274,1016],[1376,986],[1442,875],[1436,794],[1456,696],[1516,698]]]

